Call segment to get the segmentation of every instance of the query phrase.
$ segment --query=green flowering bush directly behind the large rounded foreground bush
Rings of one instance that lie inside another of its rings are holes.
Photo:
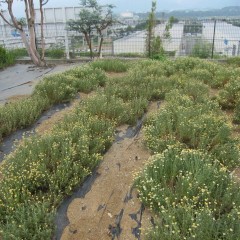
[[[184,148],[209,151],[228,168],[237,166],[238,145],[216,103],[203,99],[194,102],[176,91],[166,99],[165,108],[145,126],[146,143],[152,152],[161,153],[167,146],[179,143]]]

